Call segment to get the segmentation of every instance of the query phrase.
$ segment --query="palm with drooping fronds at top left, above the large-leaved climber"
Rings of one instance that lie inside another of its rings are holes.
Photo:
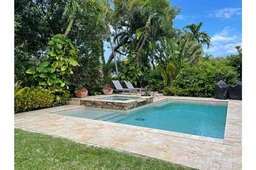
[[[89,22],[104,29],[104,6],[102,3],[97,0],[66,0],[63,19],[67,18],[69,23],[63,35],[64,38],[70,32],[77,14],[88,16]]]

